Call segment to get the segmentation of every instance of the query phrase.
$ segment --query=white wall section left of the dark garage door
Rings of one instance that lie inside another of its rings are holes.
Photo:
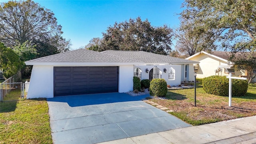
[[[53,98],[53,66],[33,66],[27,98]]]

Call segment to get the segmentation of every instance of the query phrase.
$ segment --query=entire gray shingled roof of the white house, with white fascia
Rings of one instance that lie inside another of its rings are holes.
[[[26,65],[48,65],[48,64],[193,64],[199,63],[182,58],[174,58],[160,54],[153,54],[144,51],[118,51],[106,50],[96,52],[86,49],[72,50],[51,56],[45,56],[34,60],[28,60]]]

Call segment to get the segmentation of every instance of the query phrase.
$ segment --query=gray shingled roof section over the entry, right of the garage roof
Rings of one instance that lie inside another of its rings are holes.
[[[130,58],[133,60],[142,61],[145,63],[154,63],[154,64],[188,64],[198,62],[192,60],[185,60],[182,58],[175,58],[171,56],[165,56],[161,54],[154,54],[144,51],[124,51],[124,50],[106,50],[101,52],[103,54],[110,54],[112,56],[120,56],[124,58]]]

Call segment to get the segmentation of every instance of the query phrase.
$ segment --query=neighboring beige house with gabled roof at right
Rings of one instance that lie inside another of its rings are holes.
[[[205,78],[208,76],[228,76],[229,73],[232,73],[233,76],[247,77],[247,71],[236,71],[232,62],[228,60],[228,53],[221,51],[213,51],[211,54],[207,52],[198,52],[186,60],[193,60],[200,62],[199,64],[194,64],[194,71],[197,73],[197,78]],[[253,70],[256,74],[256,70]],[[256,78],[252,80],[256,82]]]

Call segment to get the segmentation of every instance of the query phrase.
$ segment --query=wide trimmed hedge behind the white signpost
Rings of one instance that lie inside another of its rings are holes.
[[[228,96],[228,78],[226,76],[209,76],[202,80],[203,89],[208,94]],[[244,96],[247,92],[246,80],[232,79],[232,96]]]

